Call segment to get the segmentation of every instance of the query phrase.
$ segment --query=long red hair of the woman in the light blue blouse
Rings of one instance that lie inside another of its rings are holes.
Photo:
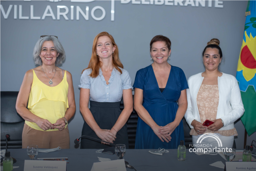
[[[112,45],[115,46],[115,51],[112,54],[112,58],[113,58],[112,64],[115,67],[115,69],[117,69],[122,74],[122,70],[120,68],[124,68],[124,67],[119,59],[119,56],[118,56],[118,47],[115,44],[114,38],[109,33],[104,31],[104,32],[101,32],[100,34],[98,34],[93,40],[92,57],[90,59],[88,67],[86,68],[86,69],[92,70],[92,72],[89,74],[89,76],[92,78],[95,78],[95,77],[98,77],[98,75],[99,75],[99,69],[100,69],[101,62],[100,62],[99,57],[96,52],[96,45],[97,45],[97,41],[98,41],[99,37],[101,37],[101,36],[108,36],[112,42]],[[86,70],[86,69],[84,69],[84,70]],[[82,71],[82,73],[83,73],[83,71]]]

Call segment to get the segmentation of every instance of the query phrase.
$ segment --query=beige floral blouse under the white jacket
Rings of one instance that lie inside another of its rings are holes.
[[[205,85],[202,84],[197,93],[197,107],[201,123],[203,124],[206,119],[209,121],[215,120],[217,116],[218,104],[219,104],[219,89],[218,85]],[[223,136],[237,136],[236,128],[224,131],[210,131],[206,130],[205,133],[219,133]],[[190,130],[190,135],[200,135],[195,129]]]

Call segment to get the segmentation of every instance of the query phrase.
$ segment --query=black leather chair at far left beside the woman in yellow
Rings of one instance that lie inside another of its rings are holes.
[[[10,134],[8,148],[22,148],[22,131],[24,119],[17,113],[15,105],[18,91],[1,91],[1,137],[0,148],[6,146],[5,135]]]

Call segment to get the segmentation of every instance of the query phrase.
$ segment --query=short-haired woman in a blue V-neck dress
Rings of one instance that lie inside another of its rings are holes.
[[[134,109],[139,119],[135,149],[173,149],[184,140],[188,84],[183,70],[167,62],[170,46],[167,37],[155,36],[150,42],[154,62],[136,73]]]

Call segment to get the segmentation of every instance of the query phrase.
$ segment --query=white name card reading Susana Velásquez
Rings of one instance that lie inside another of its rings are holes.
[[[66,161],[25,160],[24,171],[66,171]]]

